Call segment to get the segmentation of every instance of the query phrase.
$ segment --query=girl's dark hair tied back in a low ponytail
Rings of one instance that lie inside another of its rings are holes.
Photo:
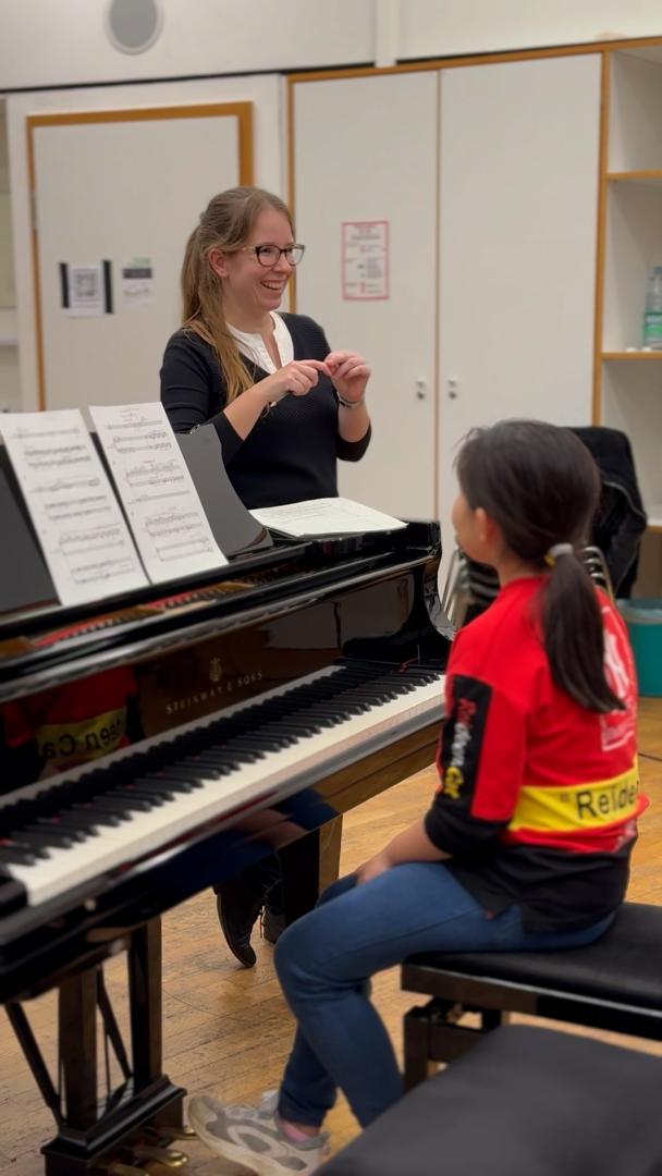
[[[556,686],[588,710],[622,710],[604,675],[600,599],[575,554],[589,539],[601,486],[586,446],[556,425],[502,421],[469,434],[457,475],[469,506],[499,523],[507,547],[549,573],[540,619]]]

